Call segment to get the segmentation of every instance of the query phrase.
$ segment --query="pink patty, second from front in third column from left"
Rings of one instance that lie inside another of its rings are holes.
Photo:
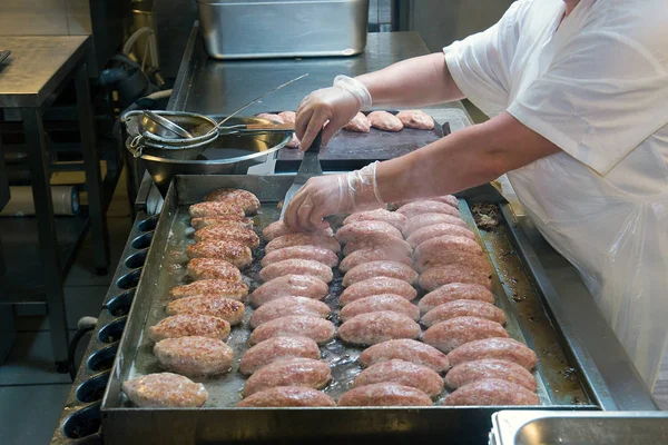
[[[376,363],[364,369],[355,377],[353,388],[384,382],[412,386],[430,397],[435,397],[443,392],[443,379],[435,370],[395,358]]]

